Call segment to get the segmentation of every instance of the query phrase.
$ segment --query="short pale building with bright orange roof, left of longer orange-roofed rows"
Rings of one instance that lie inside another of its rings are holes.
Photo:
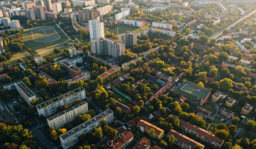
[[[142,133],[147,133],[149,136],[150,136],[150,129],[154,129],[154,138],[161,139],[164,137],[164,130],[144,120],[139,120],[139,122],[137,123],[137,128],[140,131],[142,131]]]

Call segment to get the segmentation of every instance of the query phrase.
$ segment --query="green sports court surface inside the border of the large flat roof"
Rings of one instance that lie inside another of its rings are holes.
[[[185,84],[183,87],[181,87],[181,91],[193,94],[193,96],[197,96],[200,99],[203,99],[203,97],[208,94],[208,91],[198,88],[193,84]]]

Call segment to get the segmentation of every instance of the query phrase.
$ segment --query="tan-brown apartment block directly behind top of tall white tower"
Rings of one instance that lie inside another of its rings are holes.
[[[78,11],[78,20],[80,22],[88,23],[88,21],[93,20],[98,16],[100,16],[100,11],[97,11],[95,9]]]

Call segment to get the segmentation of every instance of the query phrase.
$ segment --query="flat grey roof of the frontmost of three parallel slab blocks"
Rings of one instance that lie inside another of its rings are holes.
[[[63,135],[60,136],[60,138],[62,138],[63,140],[66,140],[70,137],[76,136],[78,132],[80,132],[81,128],[87,128],[88,126],[91,126],[92,123],[98,122],[100,121],[102,118],[104,118],[105,116],[108,116],[110,114],[113,114],[113,111],[111,111],[110,109],[107,109],[106,111],[103,111],[101,114],[98,114],[97,116],[91,118],[88,121],[85,121],[84,123],[81,123],[79,126],[71,129],[70,131],[64,133]]]

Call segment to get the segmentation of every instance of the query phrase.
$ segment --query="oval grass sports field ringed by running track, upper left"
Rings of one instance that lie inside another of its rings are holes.
[[[31,28],[30,31],[33,40],[40,43],[55,41],[60,38],[60,35],[58,35],[53,26],[40,26]]]

